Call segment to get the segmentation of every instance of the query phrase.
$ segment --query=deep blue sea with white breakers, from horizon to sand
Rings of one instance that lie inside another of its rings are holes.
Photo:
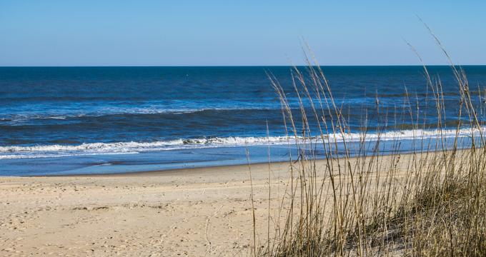
[[[486,66],[463,69],[472,101],[480,106]],[[433,91],[421,66],[322,70],[347,119],[349,138],[359,141],[366,126],[370,142],[382,131],[385,140],[388,135],[402,141],[405,152],[412,150],[417,134],[437,136]],[[250,162],[268,161],[267,151],[272,161],[287,160],[295,149],[286,135],[293,131],[287,123],[286,132],[268,74],[282,85],[299,135],[299,104],[312,111],[305,96],[299,103],[290,71],[289,66],[0,67],[0,176],[240,164],[247,163],[247,150]],[[444,133],[455,136],[457,82],[448,66],[429,71],[442,84]],[[309,119],[310,133],[317,136],[317,123]],[[383,146],[383,151],[395,150]]]

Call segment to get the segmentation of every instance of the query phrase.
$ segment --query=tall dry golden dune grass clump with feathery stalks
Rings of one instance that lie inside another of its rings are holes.
[[[297,110],[269,74],[298,156],[289,160],[284,220],[272,218],[275,236],[268,233],[261,247],[255,242],[252,255],[486,256],[486,148],[482,105],[477,106],[482,101],[473,100],[481,95],[472,95],[465,72],[451,61],[459,97],[452,128],[445,122],[441,81],[424,66],[425,108],[435,108],[437,124],[426,127],[424,103],[405,89],[406,104],[397,107],[401,112],[395,110],[401,113],[395,121],[377,98],[378,125],[367,126],[370,117],[364,111],[359,139],[351,140],[345,110],[334,101],[324,72],[315,61],[307,59],[307,64],[292,69]],[[403,121],[416,133],[411,153],[402,153],[393,136]],[[372,141],[367,139],[370,129],[378,134]],[[425,129],[437,135],[424,136],[420,131]],[[451,130],[455,136],[445,136]],[[391,154],[382,152],[385,143]],[[318,152],[324,165],[318,165]]]

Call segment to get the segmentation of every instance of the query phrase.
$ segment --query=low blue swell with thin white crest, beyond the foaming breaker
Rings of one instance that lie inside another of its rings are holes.
[[[289,104],[291,109],[299,111],[299,100],[289,97]],[[314,99],[317,101],[317,99]],[[400,101],[397,99],[390,99],[389,101],[382,100],[383,104],[397,105]],[[342,99],[338,104],[349,104],[353,108],[359,104],[370,104],[374,106],[374,97],[356,97],[353,99]],[[18,104],[18,103],[17,103]],[[303,104],[306,109],[311,108],[307,99],[303,99]],[[174,108],[175,106],[175,108]],[[190,106],[190,107],[188,107]],[[362,106],[361,106],[362,107]],[[257,103],[252,101],[228,101],[218,104],[211,104],[204,102],[202,104],[194,104],[192,102],[178,102],[177,104],[159,104],[153,101],[142,101],[141,103],[126,103],[126,102],[107,102],[107,103],[91,103],[91,102],[72,102],[59,103],[51,101],[46,104],[35,104],[29,108],[2,108],[0,106],[0,126],[2,123],[11,125],[11,123],[32,121],[32,120],[64,120],[77,118],[96,118],[114,115],[130,116],[144,115],[144,114],[210,114],[212,112],[221,111],[279,111],[281,106],[277,99],[264,99]]]

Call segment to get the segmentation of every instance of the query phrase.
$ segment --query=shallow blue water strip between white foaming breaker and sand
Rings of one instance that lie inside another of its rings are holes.
[[[400,141],[359,141],[348,142],[347,148],[342,143],[337,149],[332,149],[333,157],[363,156],[372,151],[380,151],[383,155],[397,153],[417,153],[437,151],[442,148],[452,148],[454,141],[442,142],[437,138],[404,139]],[[477,138],[477,142],[479,138]],[[442,144],[444,143],[444,144]],[[458,141],[459,148],[470,146],[471,139],[462,137]],[[480,144],[480,143],[478,143]],[[400,146],[399,146],[400,145]],[[364,147],[362,147],[364,146]],[[268,161],[297,161],[302,151],[307,152],[307,158],[328,158],[319,141],[299,145],[267,145],[267,146],[234,146],[218,148],[194,148],[170,151],[147,151],[142,153],[95,154],[80,156],[62,156],[46,158],[13,158],[0,160],[0,176],[63,176],[87,174],[133,173],[142,171],[164,171],[179,168],[200,168],[209,166],[232,166],[248,163],[265,163]],[[329,149],[328,149],[329,150]],[[247,158],[247,151],[249,158]],[[270,153],[270,154],[269,154]],[[269,157],[270,156],[270,157]]]

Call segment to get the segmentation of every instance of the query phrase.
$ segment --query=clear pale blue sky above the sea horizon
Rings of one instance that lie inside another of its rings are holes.
[[[0,66],[486,64],[486,1],[0,0]]]

